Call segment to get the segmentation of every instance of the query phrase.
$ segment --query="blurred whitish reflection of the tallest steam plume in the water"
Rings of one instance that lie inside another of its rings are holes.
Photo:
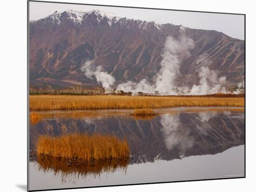
[[[193,146],[193,139],[189,137],[190,130],[181,128],[179,114],[161,115],[162,132],[166,148],[171,150],[178,148],[182,158],[187,148]]]

